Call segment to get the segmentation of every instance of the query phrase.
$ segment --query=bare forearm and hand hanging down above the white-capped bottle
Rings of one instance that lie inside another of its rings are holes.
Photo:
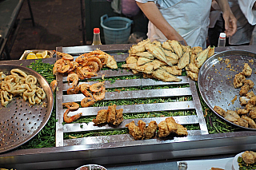
[[[237,19],[234,17],[227,0],[216,0],[222,9],[222,16],[225,21],[226,37],[230,37],[237,31]]]

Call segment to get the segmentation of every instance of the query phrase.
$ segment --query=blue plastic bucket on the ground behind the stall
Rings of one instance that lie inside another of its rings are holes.
[[[101,17],[101,26],[104,31],[106,44],[126,44],[130,37],[130,27],[133,23],[129,18],[108,17],[107,14]]]

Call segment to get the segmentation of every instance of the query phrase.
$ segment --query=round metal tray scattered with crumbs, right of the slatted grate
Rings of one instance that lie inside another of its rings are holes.
[[[244,50],[229,50],[222,53],[214,54],[214,56],[208,58],[208,60],[202,65],[200,73],[198,74],[198,88],[202,95],[206,105],[214,111],[214,106],[220,106],[224,110],[237,110],[242,106],[239,101],[240,88],[235,89],[233,85],[234,75],[242,72],[244,63],[248,63],[253,69],[253,73],[250,77],[251,81],[256,82],[255,62],[256,53],[252,53]],[[222,60],[220,60],[222,58]],[[230,62],[226,63],[225,60],[229,59]],[[229,66],[230,65],[230,68]],[[256,93],[255,86],[251,89]],[[232,103],[234,97],[237,96],[237,100]],[[218,113],[214,113],[221,117]],[[223,120],[227,121],[224,117]],[[228,121],[232,125],[236,125]],[[240,128],[245,128],[236,125]],[[250,130],[256,130],[255,128],[246,128]]]

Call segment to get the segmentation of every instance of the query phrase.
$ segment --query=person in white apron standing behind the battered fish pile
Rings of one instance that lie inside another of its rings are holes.
[[[136,0],[150,20],[148,38],[165,42],[184,41],[185,45],[206,47],[211,0]],[[220,0],[226,22],[226,35],[236,31],[236,19],[227,0]],[[154,23],[154,24],[153,24]]]

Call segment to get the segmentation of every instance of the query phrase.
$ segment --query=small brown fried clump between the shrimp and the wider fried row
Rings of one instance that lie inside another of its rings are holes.
[[[93,120],[94,125],[104,123],[120,125],[123,120],[122,111],[123,109],[117,109],[117,105],[110,105],[107,110],[99,110],[96,119]]]

